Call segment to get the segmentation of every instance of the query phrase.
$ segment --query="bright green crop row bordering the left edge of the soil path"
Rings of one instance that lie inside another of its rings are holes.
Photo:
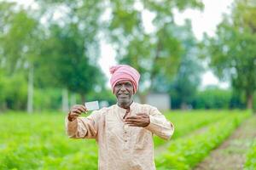
[[[172,141],[168,151],[156,158],[160,169],[191,169],[216,148],[249,115],[230,115],[210,124],[201,133]]]

